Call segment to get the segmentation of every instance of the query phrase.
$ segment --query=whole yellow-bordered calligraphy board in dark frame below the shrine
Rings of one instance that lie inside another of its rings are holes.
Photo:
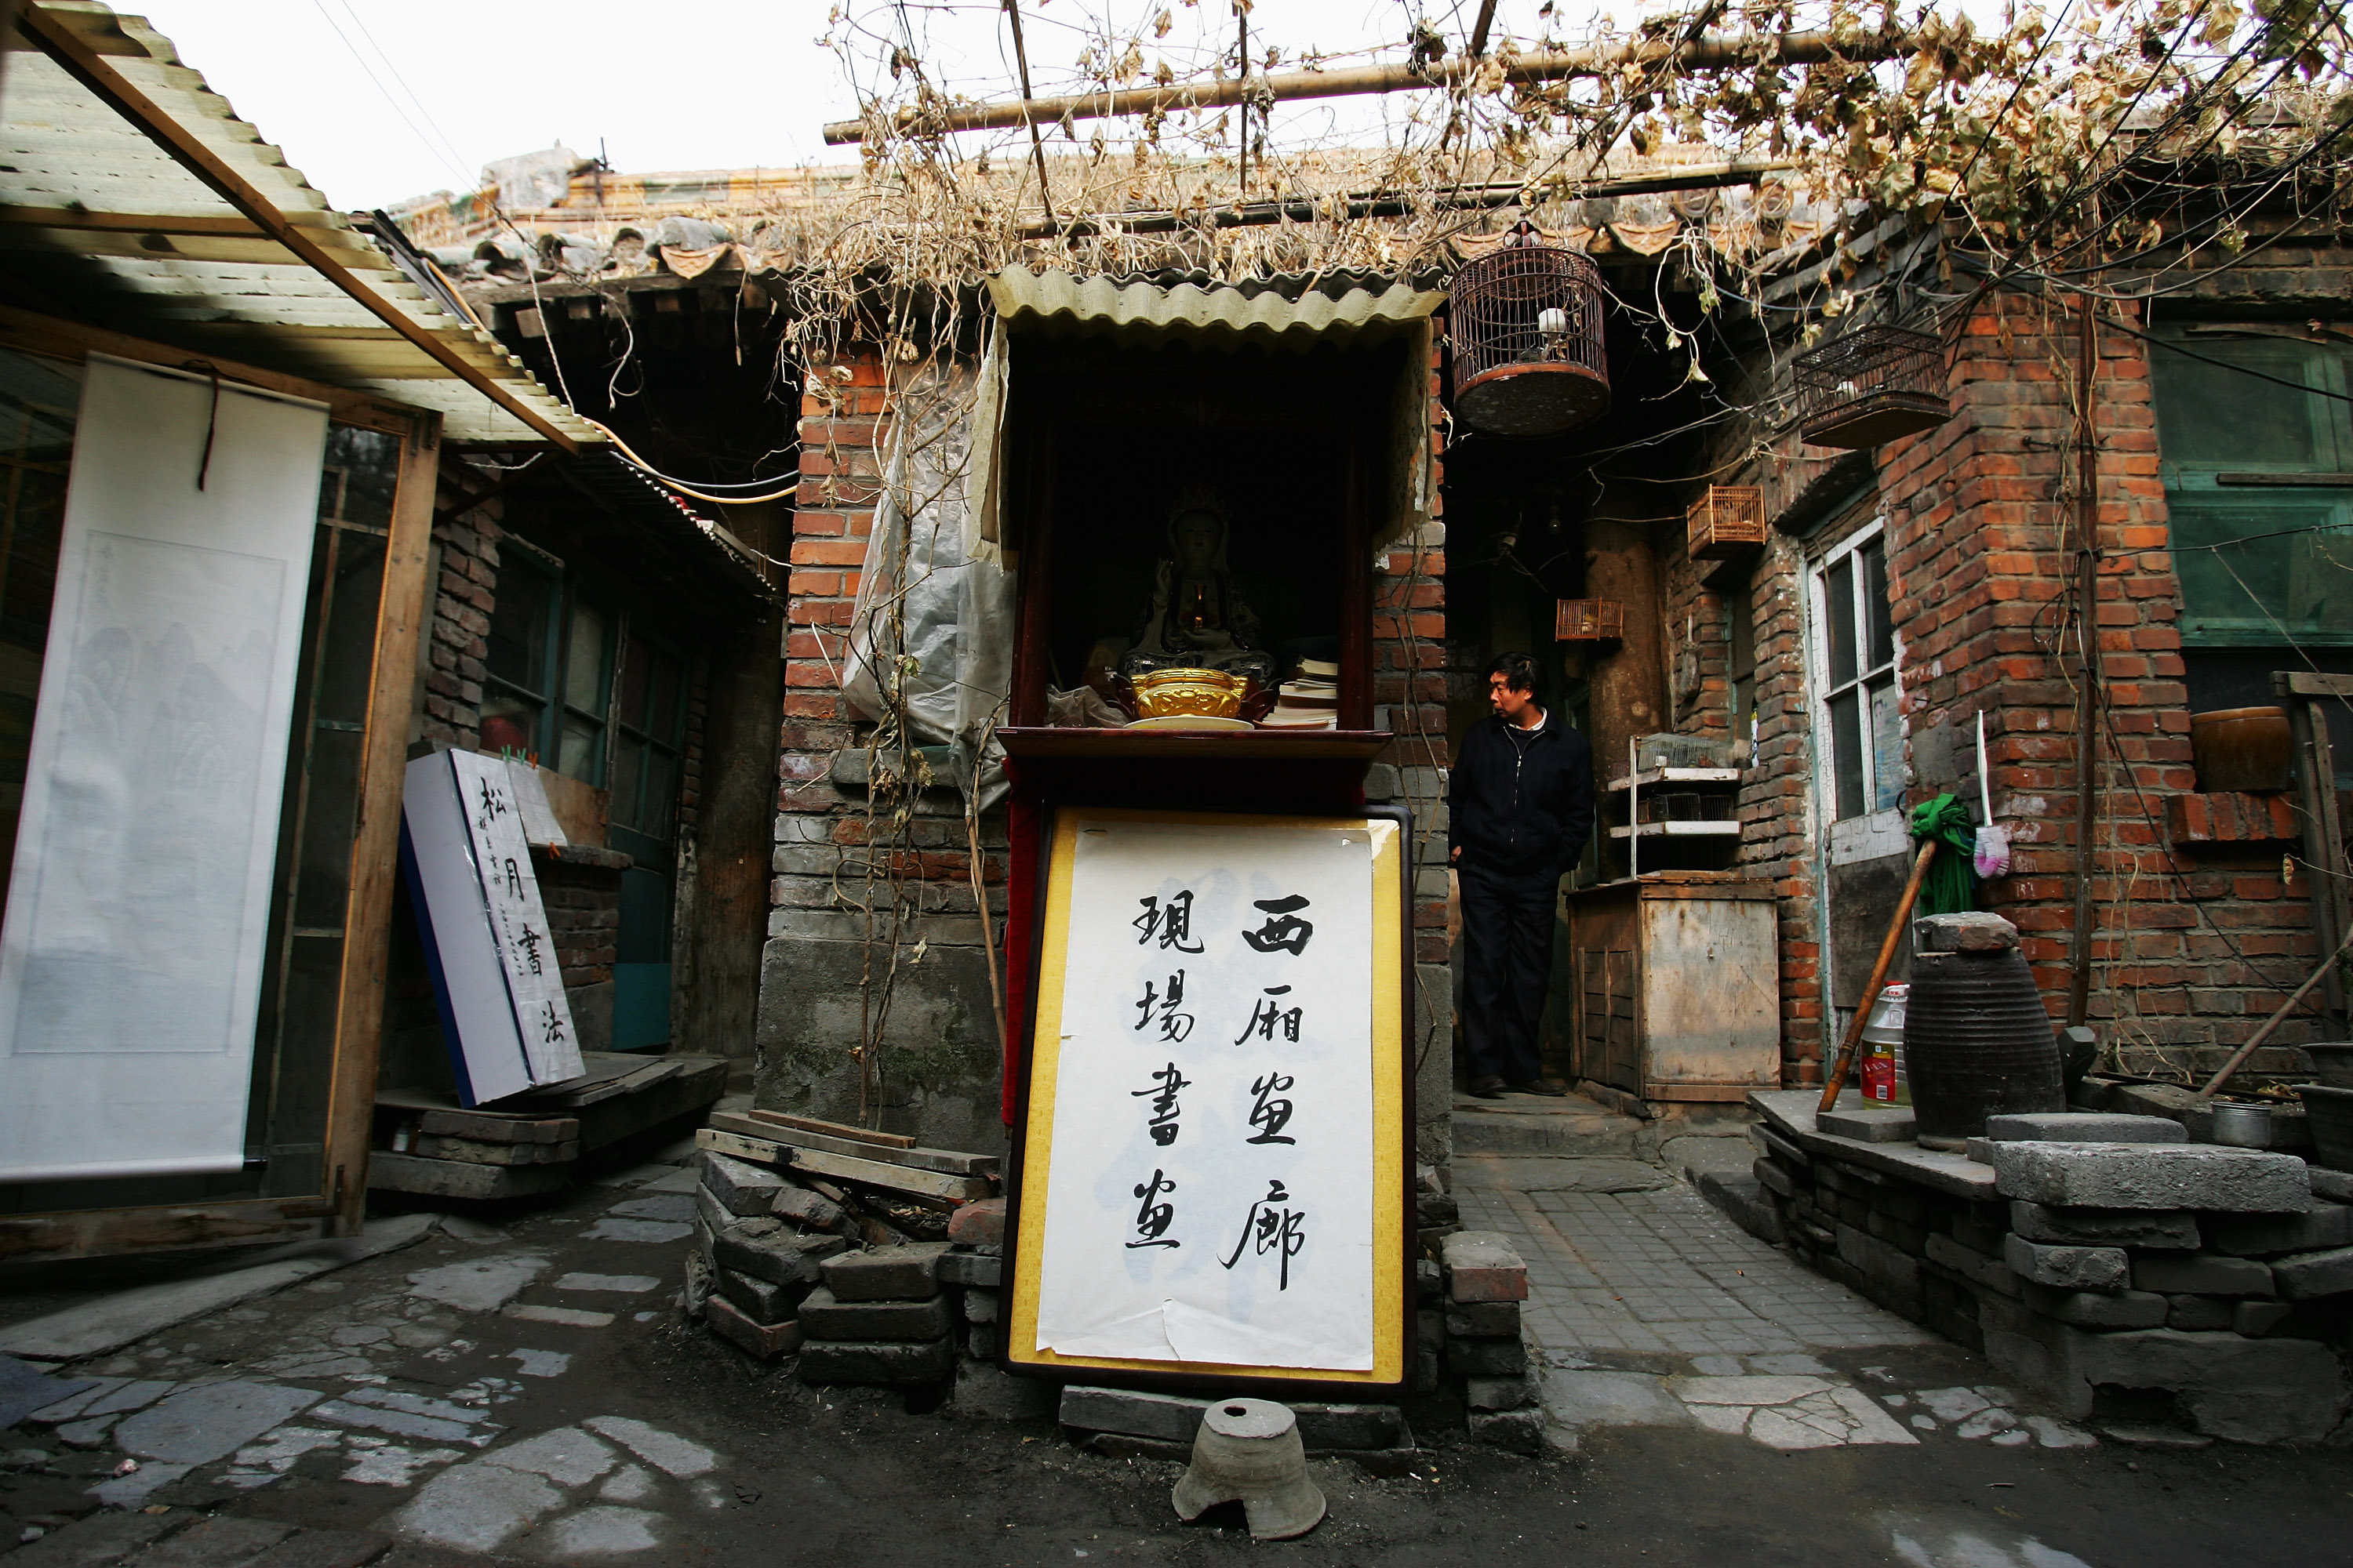
[[[1402,811],[1054,813],[1009,1371],[1402,1387],[1409,839]]]

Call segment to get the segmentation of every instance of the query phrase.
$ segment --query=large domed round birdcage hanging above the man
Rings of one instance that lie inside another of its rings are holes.
[[[1558,435],[1609,411],[1602,270],[1527,226],[1447,292],[1454,416],[1489,435]]]

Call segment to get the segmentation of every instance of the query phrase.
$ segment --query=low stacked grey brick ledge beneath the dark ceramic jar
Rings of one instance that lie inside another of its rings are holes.
[[[1741,1222],[2068,1415],[2249,1443],[2341,1427],[2344,1173],[2184,1143],[2162,1117],[1995,1117],[1962,1173],[1847,1131],[1866,1138],[1767,1112],[1751,1128],[1767,1211]]]

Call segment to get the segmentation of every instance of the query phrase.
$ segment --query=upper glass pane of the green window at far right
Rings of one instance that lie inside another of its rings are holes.
[[[2184,348],[2202,357],[2148,346],[2158,451],[2167,463],[2306,473],[2337,468],[2334,442],[2327,440],[2332,409],[2325,407],[2332,400],[2297,390],[2322,376],[2318,346],[2200,336]],[[2261,374],[2245,374],[2249,369]]]

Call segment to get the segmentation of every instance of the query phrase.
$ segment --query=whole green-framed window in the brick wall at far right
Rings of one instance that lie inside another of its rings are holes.
[[[2353,646],[2353,346],[2177,329],[2148,369],[2181,644]]]

